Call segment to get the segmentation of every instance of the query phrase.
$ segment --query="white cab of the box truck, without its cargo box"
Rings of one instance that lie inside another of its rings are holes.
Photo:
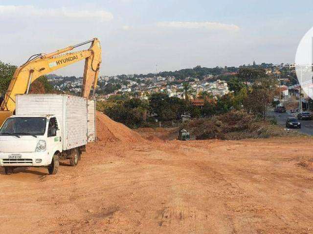
[[[5,173],[11,174],[16,167],[55,166],[53,157],[62,153],[58,122],[54,115],[7,118],[0,128],[0,166]]]

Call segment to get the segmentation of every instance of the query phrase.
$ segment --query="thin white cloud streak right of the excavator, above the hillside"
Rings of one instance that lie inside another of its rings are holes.
[[[226,30],[238,31],[240,28],[234,24],[224,24],[219,22],[183,22],[183,21],[167,21],[157,22],[156,26],[166,28],[181,29],[205,29],[205,30]]]

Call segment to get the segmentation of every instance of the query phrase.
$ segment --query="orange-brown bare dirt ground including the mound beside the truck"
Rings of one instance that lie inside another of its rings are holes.
[[[97,113],[78,166],[0,169],[2,234],[312,234],[312,138],[178,141]]]

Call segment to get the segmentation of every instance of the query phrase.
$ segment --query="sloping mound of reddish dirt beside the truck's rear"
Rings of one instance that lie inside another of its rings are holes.
[[[97,121],[97,140],[98,141],[120,141],[122,143],[135,143],[144,139],[124,124],[113,121],[105,114],[96,113]]]

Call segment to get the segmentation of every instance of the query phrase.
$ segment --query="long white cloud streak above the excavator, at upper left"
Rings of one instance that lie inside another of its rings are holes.
[[[74,18],[74,19],[98,19],[109,21],[113,19],[111,12],[104,10],[77,10],[66,7],[62,8],[38,8],[32,5],[0,5],[0,17],[23,16],[23,17],[53,17],[53,18]]]

